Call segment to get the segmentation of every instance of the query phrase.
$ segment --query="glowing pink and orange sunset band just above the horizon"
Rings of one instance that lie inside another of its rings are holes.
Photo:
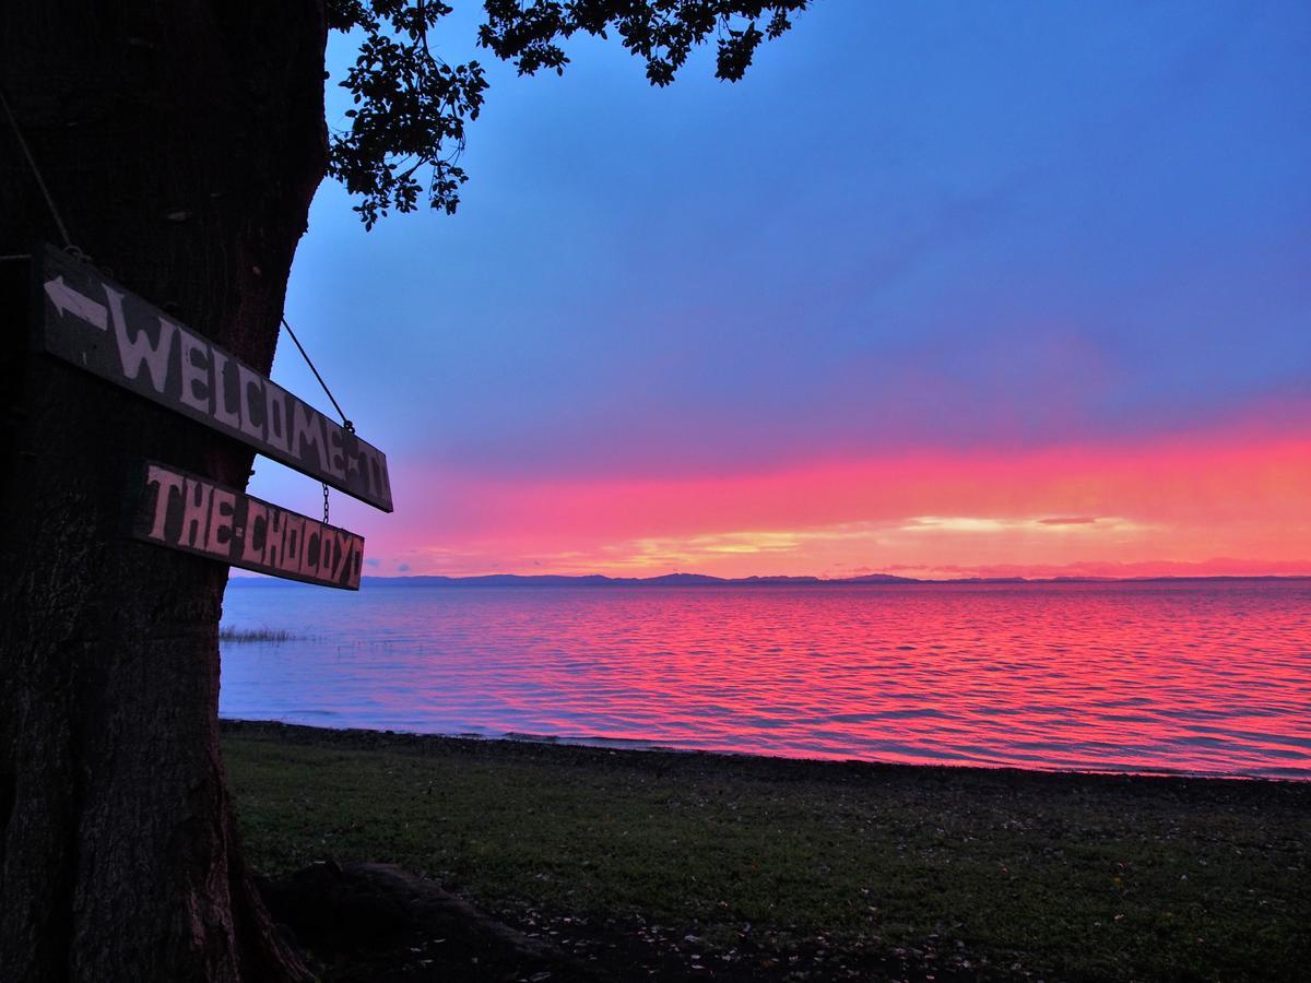
[[[376,573],[674,570],[1154,577],[1311,573],[1311,436],[919,453],[728,476],[408,473],[426,522],[379,523]]]

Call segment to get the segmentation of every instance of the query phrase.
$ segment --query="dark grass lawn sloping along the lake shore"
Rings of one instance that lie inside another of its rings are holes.
[[[1311,979],[1308,782],[258,723],[223,752],[258,870],[396,862],[635,979]]]

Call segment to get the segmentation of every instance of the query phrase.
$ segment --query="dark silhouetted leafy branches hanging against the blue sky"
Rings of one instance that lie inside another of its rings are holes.
[[[646,63],[653,85],[669,85],[692,48],[712,34],[716,77],[738,81],[764,39],[792,26],[809,0],[486,0],[479,45],[520,75],[564,73],[561,46],[577,33],[620,43]],[[391,208],[429,206],[454,214],[468,176],[459,165],[465,123],[477,119],[488,81],[482,66],[451,67],[429,33],[452,8],[440,0],[333,0],[329,25],[359,31],[355,63],[341,83],[354,100],[350,128],[332,139],[329,173],[359,197],[366,228]],[[763,28],[760,26],[763,24]],[[422,178],[422,182],[421,182]]]

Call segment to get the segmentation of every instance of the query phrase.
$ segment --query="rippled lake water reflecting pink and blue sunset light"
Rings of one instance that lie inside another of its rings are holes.
[[[233,581],[220,713],[805,758],[1311,779],[1311,581]]]

